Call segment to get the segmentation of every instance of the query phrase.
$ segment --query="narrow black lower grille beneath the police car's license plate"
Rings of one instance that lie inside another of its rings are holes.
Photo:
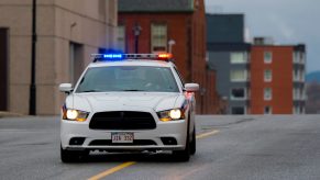
[[[133,143],[112,143],[111,139],[92,140],[89,146],[148,146],[156,145],[154,140],[135,139]]]

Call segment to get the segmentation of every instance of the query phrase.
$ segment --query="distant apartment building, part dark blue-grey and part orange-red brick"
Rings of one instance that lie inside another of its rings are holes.
[[[209,67],[228,114],[305,113],[306,47],[244,40],[243,14],[207,14]]]

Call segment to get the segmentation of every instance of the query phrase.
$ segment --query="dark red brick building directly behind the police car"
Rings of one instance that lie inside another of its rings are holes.
[[[206,63],[203,0],[119,0],[118,4],[120,48],[172,52],[185,81],[200,85],[197,113],[220,112],[216,71],[208,70]]]

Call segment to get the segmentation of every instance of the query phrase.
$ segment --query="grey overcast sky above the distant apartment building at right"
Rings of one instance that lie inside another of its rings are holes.
[[[244,13],[251,37],[307,45],[307,71],[320,70],[320,0],[206,0],[209,13]]]

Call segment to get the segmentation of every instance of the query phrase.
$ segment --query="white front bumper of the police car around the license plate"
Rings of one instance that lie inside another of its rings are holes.
[[[60,142],[63,149],[102,149],[102,150],[180,150],[185,149],[187,137],[187,121],[156,122],[156,128],[143,131],[103,131],[90,130],[89,122],[71,122],[62,120]],[[111,142],[111,133],[130,132],[134,134],[134,144],[103,144],[92,145],[93,140]],[[80,145],[70,145],[75,137],[85,140]],[[164,138],[174,138],[176,143],[168,145]],[[140,144],[139,142],[154,142],[154,144]]]

